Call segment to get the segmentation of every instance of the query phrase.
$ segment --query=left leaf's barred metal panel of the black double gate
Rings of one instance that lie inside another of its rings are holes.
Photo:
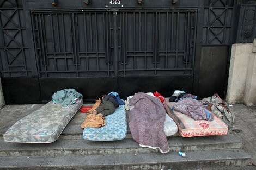
[[[113,22],[108,12],[35,12],[40,77],[109,77]]]

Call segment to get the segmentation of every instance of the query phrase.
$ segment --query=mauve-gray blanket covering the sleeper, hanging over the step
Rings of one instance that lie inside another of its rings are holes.
[[[169,152],[169,144],[164,134],[166,111],[157,97],[136,93],[129,104],[134,106],[129,113],[129,128],[133,140],[141,147]]]

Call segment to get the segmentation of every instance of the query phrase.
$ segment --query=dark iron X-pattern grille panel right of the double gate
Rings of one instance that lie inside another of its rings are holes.
[[[233,0],[205,1],[203,40],[204,45],[229,45]]]

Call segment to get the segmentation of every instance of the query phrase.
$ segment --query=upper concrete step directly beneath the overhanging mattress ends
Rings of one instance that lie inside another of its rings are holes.
[[[182,150],[240,149],[241,141],[232,134],[226,136],[168,137],[170,152]],[[121,141],[66,140],[59,138],[47,144],[9,143],[0,141],[0,156],[69,156],[157,153],[158,149],[140,147],[132,138]]]

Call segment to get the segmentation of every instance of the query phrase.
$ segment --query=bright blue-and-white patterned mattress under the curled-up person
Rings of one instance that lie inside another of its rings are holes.
[[[83,138],[89,141],[117,141],[126,137],[127,121],[124,105],[120,105],[113,114],[105,118],[107,125],[101,128],[84,128]]]

